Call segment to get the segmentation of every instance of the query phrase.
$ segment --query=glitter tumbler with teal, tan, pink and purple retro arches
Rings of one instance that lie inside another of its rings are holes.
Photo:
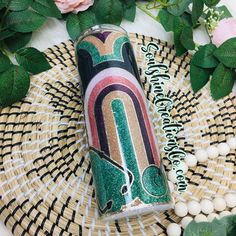
[[[169,209],[171,196],[127,33],[97,25],[75,43],[102,219]]]

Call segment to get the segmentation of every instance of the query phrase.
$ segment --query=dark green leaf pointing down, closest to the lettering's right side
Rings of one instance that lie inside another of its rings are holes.
[[[194,93],[203,88],[209,81],[212,70],[203,69],[195,66],[193,63],[190,65],[190,82]]]

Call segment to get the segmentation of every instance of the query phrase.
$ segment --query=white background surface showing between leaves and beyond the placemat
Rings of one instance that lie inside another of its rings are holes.
[[[231,14],[236,17],[235,0],[222,0],[221,4],[226,5]],[[171,33],[166,33],[158,22],[154,21],[151,17],[139,9],[137,9],[137,15],[134,23],[123,21],[121,26],[128,32],[140,33],[172,42]],[[55,19],[50,19],[40,30],[33,34],[30,45],[40,50],[45,50],[54,44],[58,44],[68,39],[69,36],[66,31],[65,23]],[[194,33],[194,39],[198,43],[207,43],[208,37],[204,33],[204,29],[199,29]],[[0,222],[0,236],[12,236],[11,232],[6,229],[2,222]]]

